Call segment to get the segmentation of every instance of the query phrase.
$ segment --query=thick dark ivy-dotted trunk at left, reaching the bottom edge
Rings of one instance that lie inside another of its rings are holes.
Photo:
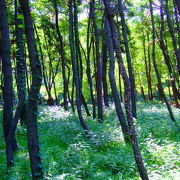
[[[32,71],[32,84],[28,97],[28,149],[32,170],[32,178],[34,180],[43,177],[41,157],[38,141],[37,127],[37,105],[39,99],[39,91],[42,82],[41,65],[36,47],[36,39],[34,35],[33,21],[28,0],[19,0],[24,15],[25,33],[29,51],[29,59]]]

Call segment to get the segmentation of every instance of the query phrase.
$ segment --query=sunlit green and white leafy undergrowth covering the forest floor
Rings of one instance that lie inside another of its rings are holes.
[[[180,125],[180,110],[173,108],[173,112]],[[47,179],[139,179],[131,145],[123,142],[114,107],[104,113],[103,124],[86,118],[94,133],[93,139],[88,140],[77,115],[64,112],[60,107],[40,107],[40,147]],[[136,127],[150,180],[178,180],[180,133],[170,121],[165,105],[138,104]],[[31,179],[25,127],[18,126],[17,139],[20,148],[15,166],[8,170],[1,123],[0,180]]]

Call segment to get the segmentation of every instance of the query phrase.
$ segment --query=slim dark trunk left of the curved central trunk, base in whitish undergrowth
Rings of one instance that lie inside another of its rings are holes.
[[[63,76],[63,96],[64,96],[64,109],[68,110],[68,101],[67,101],[67,94],[68,94],[68,83],[67,83],[67,77],[66,77],[66,66],[65,66],[65,50],[63,45],[63,38],[59,29],[59,18],[58,18],[58,7],[57,7],[57,0],[53,0],[54,2],[54,10],[56,15],[56,31],[58,34],[58,39],[60,42],[59,52],[61,54],[61,62],[62,62],[62,76]]]

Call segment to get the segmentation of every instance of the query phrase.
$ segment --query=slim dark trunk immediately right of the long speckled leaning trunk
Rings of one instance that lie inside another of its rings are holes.
[[[129,41],[128,41],[128,34],[127,34],[127,25],[126,25],[126,21],[125,21],[125,17],[124,17],[122,0],[118,0],[118,4],[119,4],[120,17],[121,17],[124,45],[125,45],[125,50],[126,50],[126,58],[127,58],[127,62],[128,62],[129,80],[130,80],[130,83],[131,83],[132,110],[133,110],[133,116],[135,118],[137,118],[135,79],[134,79],[134,72],[133,72],[133,66],[132,66],[132,58],[131,58],[131,53],[130,53],[130,48],[129,48]]]

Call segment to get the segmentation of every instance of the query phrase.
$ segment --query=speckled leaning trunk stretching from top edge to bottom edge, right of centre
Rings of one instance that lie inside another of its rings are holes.
[[[129,134],[131,137],[131,143],[132,143],[133,152],[134,152],[134,158],[135,158],[141,178],[143,180],[148,180],[149,178],[148,178],[147,171],[142,160],[142,156],[141,156],[138,141],[137,141],[137,134],[136,134],[133,114],[132,114],[130,81],[129,81],[129,78],[128,78],[128,75],[124,66],[123,59],[122,59],[118,28],[114,21],[114,14],[111,10],[110,2],[108,0],[104,0],[104,5],[105,5],[105,11],[106,11],[107,19],[110,25],[111,33],[112,33],[112,39],[113,39],[114,49],[116,52],[116,57],[119,61],[120,68],[121,68],[121,75],[124,81],[124,87],[125,87],[124,101],[125,101],[125,108],[126,108],[126,114],[127,114],[127,120],[128,120],[128,126],[129,126]]]

